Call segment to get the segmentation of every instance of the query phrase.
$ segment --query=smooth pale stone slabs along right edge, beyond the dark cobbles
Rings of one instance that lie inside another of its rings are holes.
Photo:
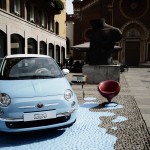
[[[150,68],[130,68],[123,74],[150,133]]]

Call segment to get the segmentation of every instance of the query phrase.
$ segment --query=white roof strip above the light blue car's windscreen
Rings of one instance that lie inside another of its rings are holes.
[[[16,58],[16,57],[45,57],[45,58],[48,58],[50,56],[41,55],[41,54],[15,54],[15,55],[6,56],[6,58]]]

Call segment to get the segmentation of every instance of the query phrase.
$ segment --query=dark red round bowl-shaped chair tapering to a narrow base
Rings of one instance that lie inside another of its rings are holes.
[[[106,80],[100,82],[97,88],[99,93],[110,103],[112,98],[120,92],[120,83],[114,80]]]

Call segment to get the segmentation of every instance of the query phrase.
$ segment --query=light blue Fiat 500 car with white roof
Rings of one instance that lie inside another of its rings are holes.
[[[0,68],[0,131],[71,126],[78,100],[67,73],[46,55],[6,56]]]

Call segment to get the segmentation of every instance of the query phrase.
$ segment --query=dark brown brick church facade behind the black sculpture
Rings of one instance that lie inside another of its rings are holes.
[[[137,66],[150,61],[150,0],[74,0],[74,45],[89,41],[90,20],[105,18],[119,28],[122,50],[114,54],[119,62]],[[74,57],[80,55],[74,52]]]

